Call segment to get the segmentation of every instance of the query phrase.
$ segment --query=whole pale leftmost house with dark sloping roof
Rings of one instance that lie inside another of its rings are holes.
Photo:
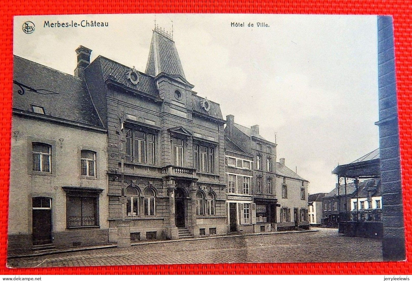
[[[8,251],[108,243],[107,129],[84,80],[14,56]]]

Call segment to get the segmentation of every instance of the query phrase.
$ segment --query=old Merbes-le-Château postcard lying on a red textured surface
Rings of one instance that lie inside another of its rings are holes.
[[[390,16],[14,17],[8,266],[405,259]]]

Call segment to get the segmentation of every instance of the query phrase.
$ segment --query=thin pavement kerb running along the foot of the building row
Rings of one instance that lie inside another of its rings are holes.
[[[248,233],[248,234],[229,234],[229,235],[211,236],[211,237],[184,238],[184,239],[178,239],[178,240],[138,242],[138,243],[132,243],[131,246],[148,245],[148,244],[160,244],[160,243],[176,243],[176,242],[180,242],[180,241],[197,241],[197,240],[205,240],[205,239],[219,239],[219,238],[230,238],[230,237],[255,236],[255,235],[294,234],[294,233],[318,232],[318,231],[319,230],[295,230],[295,231],[278,231],[278,232],[258,232],[258,233]],[[87,248],[74,248],[74,249],[71,248],[71,249],[57,250],[57,251],[54,251],[54,252],[47,252],[47,253],[10,255],[7,258],[31,258],[31,257],[44,256],[44,255],[54,255],[54,254],[61,254],[61,253],[73,253],[73,252],[91,251],[91,250],[108,249],[108,248],[117,248],[117,244],[90,246],[90,247],[87,247]]]

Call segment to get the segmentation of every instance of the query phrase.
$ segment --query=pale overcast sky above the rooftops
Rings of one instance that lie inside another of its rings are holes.
[[[108,27],[44,28],[44,21],[107,21]],[[14,54],[73,74],[75,49],[93,50],[144,72],[154,14],[19,16]],[[157,14],[171,30],[186,79],[244,126],[277,146],[277,161],[335,187],[331,171],[379,146],[376,16]],[[23,33],[25,21],[35,31]],[[245,27],[231,27],[231,22]],[[255,27],[249,28],[248,23]],[[269,27],[256,27],[265,22]]]

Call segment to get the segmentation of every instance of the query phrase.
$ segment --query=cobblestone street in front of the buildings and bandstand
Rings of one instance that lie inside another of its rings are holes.
[[[255,235],[178,241],[12,258],[8,267],[66,267],[230,262],[382,261],[382,242],[343,237],[337,229],[318,232]]]

